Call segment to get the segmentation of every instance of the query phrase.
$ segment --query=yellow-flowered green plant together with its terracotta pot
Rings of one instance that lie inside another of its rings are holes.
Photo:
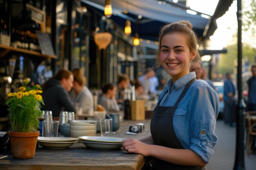
[[[9,108],[9,131],[11,152],[13,158],[30,159],[34,157],[36,142],[39,136],[39,120],[43,98],[40,95],[42,88],[39,85],[28,87],[28,79],[17,93],[9,93],[5,103]]]

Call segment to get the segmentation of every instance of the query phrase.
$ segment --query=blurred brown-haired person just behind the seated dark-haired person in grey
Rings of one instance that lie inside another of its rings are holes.
[[[119,107],[123,108],[124,105],[124,89],[130,85],[130,78],[127,74],[119,74],[117,80],[117,103]]]

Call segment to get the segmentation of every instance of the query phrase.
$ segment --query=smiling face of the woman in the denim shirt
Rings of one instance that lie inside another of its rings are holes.
[[[172,76],[173,82],[189,73],[189,60],[195,57],[187,45],[187,37],[175,32],[163,36],[160,44],[160,62]]]

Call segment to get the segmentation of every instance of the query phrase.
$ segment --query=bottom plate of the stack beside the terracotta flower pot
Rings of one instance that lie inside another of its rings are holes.
[[[78,141],[69,141],[69,142],[38,141],[38,144],[48,149],[65,149],[72,146],[76,142]]]

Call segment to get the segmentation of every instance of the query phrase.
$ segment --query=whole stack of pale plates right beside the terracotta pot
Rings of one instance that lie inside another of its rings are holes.
[[[38,144],[49,149],[64,149],[78,142],[78,138],[72,137],[38,137]]]

